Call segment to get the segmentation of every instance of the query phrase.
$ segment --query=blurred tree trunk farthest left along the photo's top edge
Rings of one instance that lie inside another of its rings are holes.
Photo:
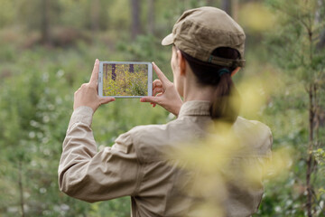
[[[42,43],[51,44],[51,33],[50,33],[50,0],[42,0]]]

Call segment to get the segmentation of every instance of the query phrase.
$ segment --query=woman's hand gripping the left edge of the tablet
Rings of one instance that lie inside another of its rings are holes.
[[[97,59],[89,82],[82,84],[79,90],[74,93],[73,109],[87,106],[95,112],[100,105],[115,101],[115,98],[100,98],[98,96],[98,71],[99,61]]]

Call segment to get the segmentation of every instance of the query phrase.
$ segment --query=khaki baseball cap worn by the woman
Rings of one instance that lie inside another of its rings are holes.
[[[162,44],[175,44],[182,52],[200,61],[243,67],[245,39],[243,29],[226,12],[205,6],[185,11]],[[211,55],[219,47],[236,49],[240,59],[230,60]]]

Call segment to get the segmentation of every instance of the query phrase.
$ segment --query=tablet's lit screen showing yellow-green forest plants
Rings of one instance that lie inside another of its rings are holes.
[[[103,96],[148,95],[146,64],[103,64]]]

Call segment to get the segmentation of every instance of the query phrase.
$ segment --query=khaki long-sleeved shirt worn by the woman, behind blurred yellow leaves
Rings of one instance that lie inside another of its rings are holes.
[[[100,152],[90,127],[92,115],[92,109],[80,107],[70,118],[59,165],[60,190],[90,203],[129,195],[134,217],[187,216],[195,199],[182,189],[186,185],[186,181],[179,182],[183,172],[168,164],[164,156],[170,147],[177,149],[179,142],[207,134],[212,123],[209,102],[185,102],[177,119],[165,125],[134,127]],[[272,145],[268,127],[244,118],[234,124],[247,132],[255,126],[260,129],[248,137],[259,155],[267,156]],[[231,188],[229,192],[227,215],[250,216],[257,211],[263,184],[247,191]]]

